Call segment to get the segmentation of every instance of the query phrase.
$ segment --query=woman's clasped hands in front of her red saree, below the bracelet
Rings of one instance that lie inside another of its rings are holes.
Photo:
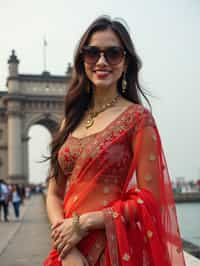
[[[87,235],[85,230],[77,232],[73,227],[73,218],[63,219],[52,226],[52,240],[61,258],[64,258],[69,250]]]

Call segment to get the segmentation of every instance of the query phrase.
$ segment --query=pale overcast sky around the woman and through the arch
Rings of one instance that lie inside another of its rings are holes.
[[[11,49],[20,59],[20,73],[43,71],[44,36],[48,70],[64,74],[81,34],[102,14],[129,25],[143,61],[142,85],[156,96],[150,100],[172,179],[200,178],[199,0],[0,0],[0,89]],[[50,136],[37,126],[29,133],[31,181],[42,181],[47,166],[35,161]]]

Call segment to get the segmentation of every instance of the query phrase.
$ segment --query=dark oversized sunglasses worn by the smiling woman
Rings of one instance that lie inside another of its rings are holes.
[[[103,54],[110,65],[118,65],[126,55],[126,51],[119,46],[111,46],[104,50],[96,46],[84,46],[81,54],[84,62],[89,65],[96,64],[101,54]]]

